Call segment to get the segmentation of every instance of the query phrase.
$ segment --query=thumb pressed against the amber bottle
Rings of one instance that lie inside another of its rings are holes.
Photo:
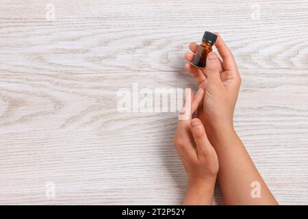
[[[205,71],[207,73],[207,81],[209,83],[220,82],[219,60],[218,60],[218,56],[216,53],[210,52],[207,55]]]

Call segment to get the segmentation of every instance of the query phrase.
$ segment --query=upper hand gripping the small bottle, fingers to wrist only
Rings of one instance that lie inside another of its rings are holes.
[[[215,52],[207,55],[205,68],[185,64],[186,70],[194,77],[198,86],[205,89],[203,106],[198,109],[198,118],[211,131],[233,127],[233,112],[238,99],[241,78],[234,57],[219,34],[215,46],[222,60]],[[198,44],[190,43],[192,53],[185,53],[185,59],[194,60]]]

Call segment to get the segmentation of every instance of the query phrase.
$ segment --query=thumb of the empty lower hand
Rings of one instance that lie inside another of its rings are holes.
[[[207,151],[207,146],[210,145],[209,140],[207,139],[207,134],[201,120],[198,118],[193,118],[190,122],[190,127],[192,131],[192,136],[194,136],[194,142],[196,142],[197,149],[202,151]]]

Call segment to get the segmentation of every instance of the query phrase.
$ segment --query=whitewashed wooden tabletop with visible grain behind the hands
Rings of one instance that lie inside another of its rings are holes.
[[[120,113],[116,92],[196,88],[183,54],[209,30],[242,75],[239,136],[279,203],[307,205],[307,21],[308,1],[2,0],[0,203],[180,204],[177,113]]]

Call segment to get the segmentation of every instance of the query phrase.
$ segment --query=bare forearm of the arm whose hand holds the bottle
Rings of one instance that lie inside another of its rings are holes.
[[[225,204],[277,205],[233,127],[212,131],[209,139],[220,161],[218,181]]]

